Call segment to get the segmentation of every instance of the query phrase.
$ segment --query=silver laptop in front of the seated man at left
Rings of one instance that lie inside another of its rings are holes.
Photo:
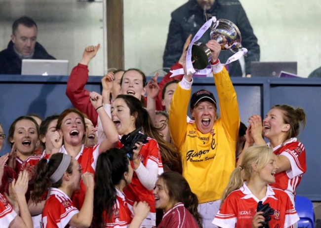
[[[21,75],[67,76],[68,60],[23,59]]]

